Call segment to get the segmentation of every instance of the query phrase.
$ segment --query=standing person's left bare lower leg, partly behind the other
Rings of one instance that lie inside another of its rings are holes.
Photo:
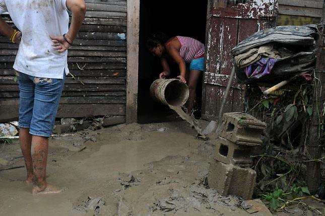
[[[19,129],[19,142],[20,142],[20,148],[22,150],[26,169],[27,169],[27,179],[25,180],[25,182],[32,183],[33,173],[34,173],[32,155],[31,155],[32,135],[29,133],[29,128],[21,127]]]

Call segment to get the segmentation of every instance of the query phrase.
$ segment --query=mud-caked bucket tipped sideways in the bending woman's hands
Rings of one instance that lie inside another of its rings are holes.
[[[158,79],[150,86],[151,97],[165,105],[181,106],[188,99],[188,87],[178,79]]]

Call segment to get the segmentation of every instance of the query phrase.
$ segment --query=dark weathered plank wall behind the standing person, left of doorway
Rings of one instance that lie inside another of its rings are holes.
[[[126,0],[86,0],[82,28],[68,51],[70,73],[57,117],[125,115]],[[2,15],[13,25],[9,15]],[[2,109],[1,101],[19,100],[13,63],[18,46],[0,36],[0,122],[17,120],[18,113]],[[8,102],[7,102],[8,103]],[[4,107],[4,106],[3,106]],[[17,107],[13,107],[16,110]],[[17,109],[18,110],[18,109]],[[5,116],[5,117],[4,117]]]

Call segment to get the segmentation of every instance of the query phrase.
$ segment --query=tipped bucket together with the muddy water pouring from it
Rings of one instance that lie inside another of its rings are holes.
[[[202,133],[198,120],[194,118],[193,114],[189,115],[181,108],[186,103],[189,95],[186,84],[180,83],[178,79],[158,79],[151,84],[150,95],[155,101],[163,103],[176,111],[183,120],[186,120],[197,130],[200,137],[206,138]]]

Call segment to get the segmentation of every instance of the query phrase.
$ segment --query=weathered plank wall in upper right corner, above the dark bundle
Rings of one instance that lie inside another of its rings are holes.
[[[279,0],[278,26],[320,23],[323,0]]]

